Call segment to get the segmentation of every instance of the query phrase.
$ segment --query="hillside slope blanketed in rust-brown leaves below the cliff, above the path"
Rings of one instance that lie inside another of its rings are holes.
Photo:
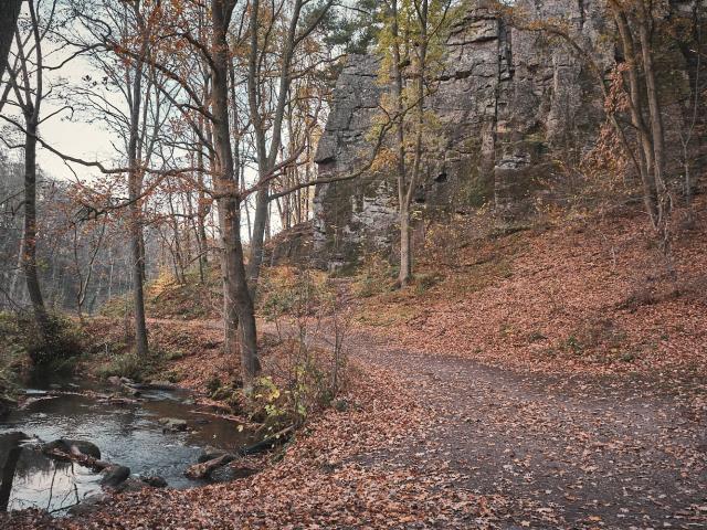
[[[636,213],[451,241],[422,256],[422,284],[363,299],[358,320],[405,349],[502,368],[704,379],[706,223],[703,209],[677,234],[676,279]]]

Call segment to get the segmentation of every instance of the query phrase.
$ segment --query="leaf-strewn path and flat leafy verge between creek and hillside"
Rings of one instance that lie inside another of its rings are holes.
[[[208,335],[217,322],[200,322]],[[254,477],[24,528],[705,528],[704,410],[640,380],[425,356],[356,331],[350,409]],[[25,515],[27,516],[27,515]],[[18,521],[17,528],[22,528]]]

